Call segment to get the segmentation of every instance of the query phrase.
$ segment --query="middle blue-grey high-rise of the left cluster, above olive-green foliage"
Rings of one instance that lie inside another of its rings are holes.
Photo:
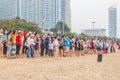
[[[20,0],[20,18],[38,23],[38,0]]]

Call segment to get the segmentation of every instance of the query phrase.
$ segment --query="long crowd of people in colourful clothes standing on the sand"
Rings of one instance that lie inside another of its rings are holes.
[[[79,39],[75,36],[39,34],[0,28],[0,58],[72,57],[117,52],[112,40]],[[25,56],[26,55],[26,56]]]

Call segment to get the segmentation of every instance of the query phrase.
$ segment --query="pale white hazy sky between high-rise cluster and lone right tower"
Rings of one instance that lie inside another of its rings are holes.
[[[108,8],[115,5],[118,0],[71,0],[72,31],[80,32],[81,29],[108,28]]]

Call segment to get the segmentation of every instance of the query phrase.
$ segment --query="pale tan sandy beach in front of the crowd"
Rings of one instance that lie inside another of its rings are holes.
[[[0,80],[120,80],[120,54],[0,59]]]

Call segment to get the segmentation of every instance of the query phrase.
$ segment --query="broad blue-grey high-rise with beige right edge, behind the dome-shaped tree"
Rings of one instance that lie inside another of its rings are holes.
[[[40,0],[39,26],[43,29],[55,27],[58,21],[71,26],[70,0]]]

